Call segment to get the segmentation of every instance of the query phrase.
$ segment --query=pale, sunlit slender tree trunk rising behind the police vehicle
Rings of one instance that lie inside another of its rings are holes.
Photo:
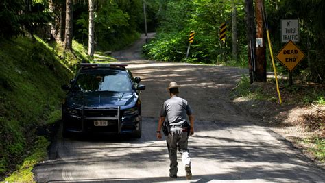
[[[89,35],[88,35],[88,56],[94,58],[95,47],[95,21],[94,21],[94,0],[89,0]]]

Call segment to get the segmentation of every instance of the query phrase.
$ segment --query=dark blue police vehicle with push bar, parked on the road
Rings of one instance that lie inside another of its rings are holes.
[[[80,64],[62,104],[63,135],[132,134],[141,137],[140,78],[127,64]]]

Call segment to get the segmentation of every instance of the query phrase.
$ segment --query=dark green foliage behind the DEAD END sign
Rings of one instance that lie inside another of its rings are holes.
[[[298,47],[307,54],[307,58],[300,62],[294,74],[298,75],[298,79],[304,82],[324,83],[324,8],[325,1],[321,0],[285,0],[278,2],[278,8],[276,8],[274,1],[270,1],[266,5],[272,45],[275,51],[280,50],[283,46],[280,42],[280,19],[299,19],[300,42],[298,42]]]

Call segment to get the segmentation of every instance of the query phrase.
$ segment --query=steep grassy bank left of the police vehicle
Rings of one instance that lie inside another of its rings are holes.
[[[71,53],[36,37],[0,40],[0,60],[0,180],[10,175],[5,180],[30,182],[32,167],[46,158],[50,141],[36,135],[37,127],[60,119],[60,86],[88,58],[75,41]]]

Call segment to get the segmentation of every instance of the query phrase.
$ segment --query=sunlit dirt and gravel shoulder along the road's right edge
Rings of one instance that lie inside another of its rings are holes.
[[[256,87],[260,88],[265,95],[278,97],[273,83],[253,84],[251,88],[254,90]],[[324,86],[317,87],[317,90],[324,90]],[[304,91],[296,91],[292,95],[282,91],[282,105],[277,101],[254,100],[250,97],[237,97],[233,102],[236,106],[245,108],[251,117],[257,119],[257,125],[269,127],[289,141],[294,148],[302,151],[315,164],[325,169],[325,162],[317,160],[311,151],[315,148],[313,144],[315,136],[320,139],[325,138],[325,106],[299,102],[300,96],[303,95],[305,95]],[[316,123],[320,127],[316,127]]]

